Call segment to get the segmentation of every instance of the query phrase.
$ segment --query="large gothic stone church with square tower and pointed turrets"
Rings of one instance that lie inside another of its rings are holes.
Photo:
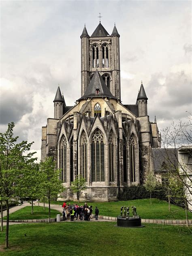
[[[143,83],[136,104],[121,103],[119,33],[98,24],[81,38],[81,97],[67,106],[58,87],[54,118],[42,127],[41,160],[53,156],[66,190],[60,199],[77,199],[70,190],[83,176],[86,201],[113,201],[125,186],[143,183],[154,170],[152,148],[161,147],[156,119],[149,121]],[[124,92],[123,92],[124,93]]]

